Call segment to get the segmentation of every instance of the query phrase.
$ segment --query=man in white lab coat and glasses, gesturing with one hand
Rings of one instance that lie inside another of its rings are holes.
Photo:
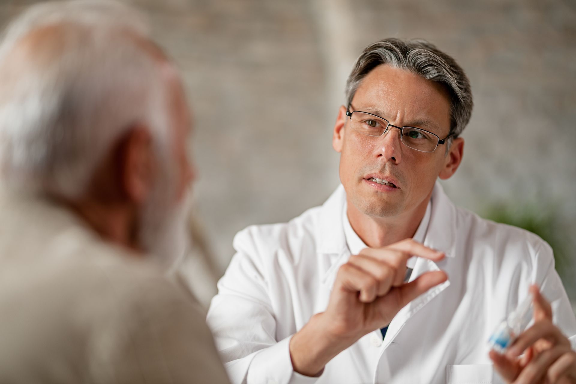
[[[232,381],[576,383],[576,320],[550,246],[455,207],[437,183],[463,156],[463,70],[426,41],[386,39],[358,58],[346,96],[332,138],[342,185],[234,239],[208,314]],[[529,290],[533,326],[490,352]]]

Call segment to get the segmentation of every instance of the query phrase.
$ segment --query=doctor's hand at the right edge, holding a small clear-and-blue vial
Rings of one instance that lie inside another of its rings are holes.
[[[552,324],[552,308],[538,287],[531,286],[530,292],[534,325],[522,332],[504,355],[490,351],[494,367],[508,383],[576,384],[576,352]]]

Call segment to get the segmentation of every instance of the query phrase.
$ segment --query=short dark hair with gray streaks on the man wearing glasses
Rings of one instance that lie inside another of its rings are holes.
[[[470,82],[452,57],[426,40],[384,39],[368,45],[348,76],[347,107],[362,79],[380,64],[389,64],[443,85],[450,95],[450,135],[461,134],[472,114]]]

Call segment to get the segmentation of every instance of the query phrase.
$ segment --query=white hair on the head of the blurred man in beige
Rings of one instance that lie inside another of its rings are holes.
[[[54,47],[29,50],[26,62],[14,65],[18,45],[51,26],[59,33]],[[164,152],[158,155],[166,156],[166,83],[138,40],[149,40],[146,22],[113,1],[40,3],[7,27],[0,43],[4,183],[78,197],[98,161],[135,124],[150,129]]]

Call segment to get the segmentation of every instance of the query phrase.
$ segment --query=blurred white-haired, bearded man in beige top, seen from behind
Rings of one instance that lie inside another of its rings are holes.
[[[165,277],[190,116],[139,16],[33,6],[0,83],[0,382],[228,383],[203,311]]]

